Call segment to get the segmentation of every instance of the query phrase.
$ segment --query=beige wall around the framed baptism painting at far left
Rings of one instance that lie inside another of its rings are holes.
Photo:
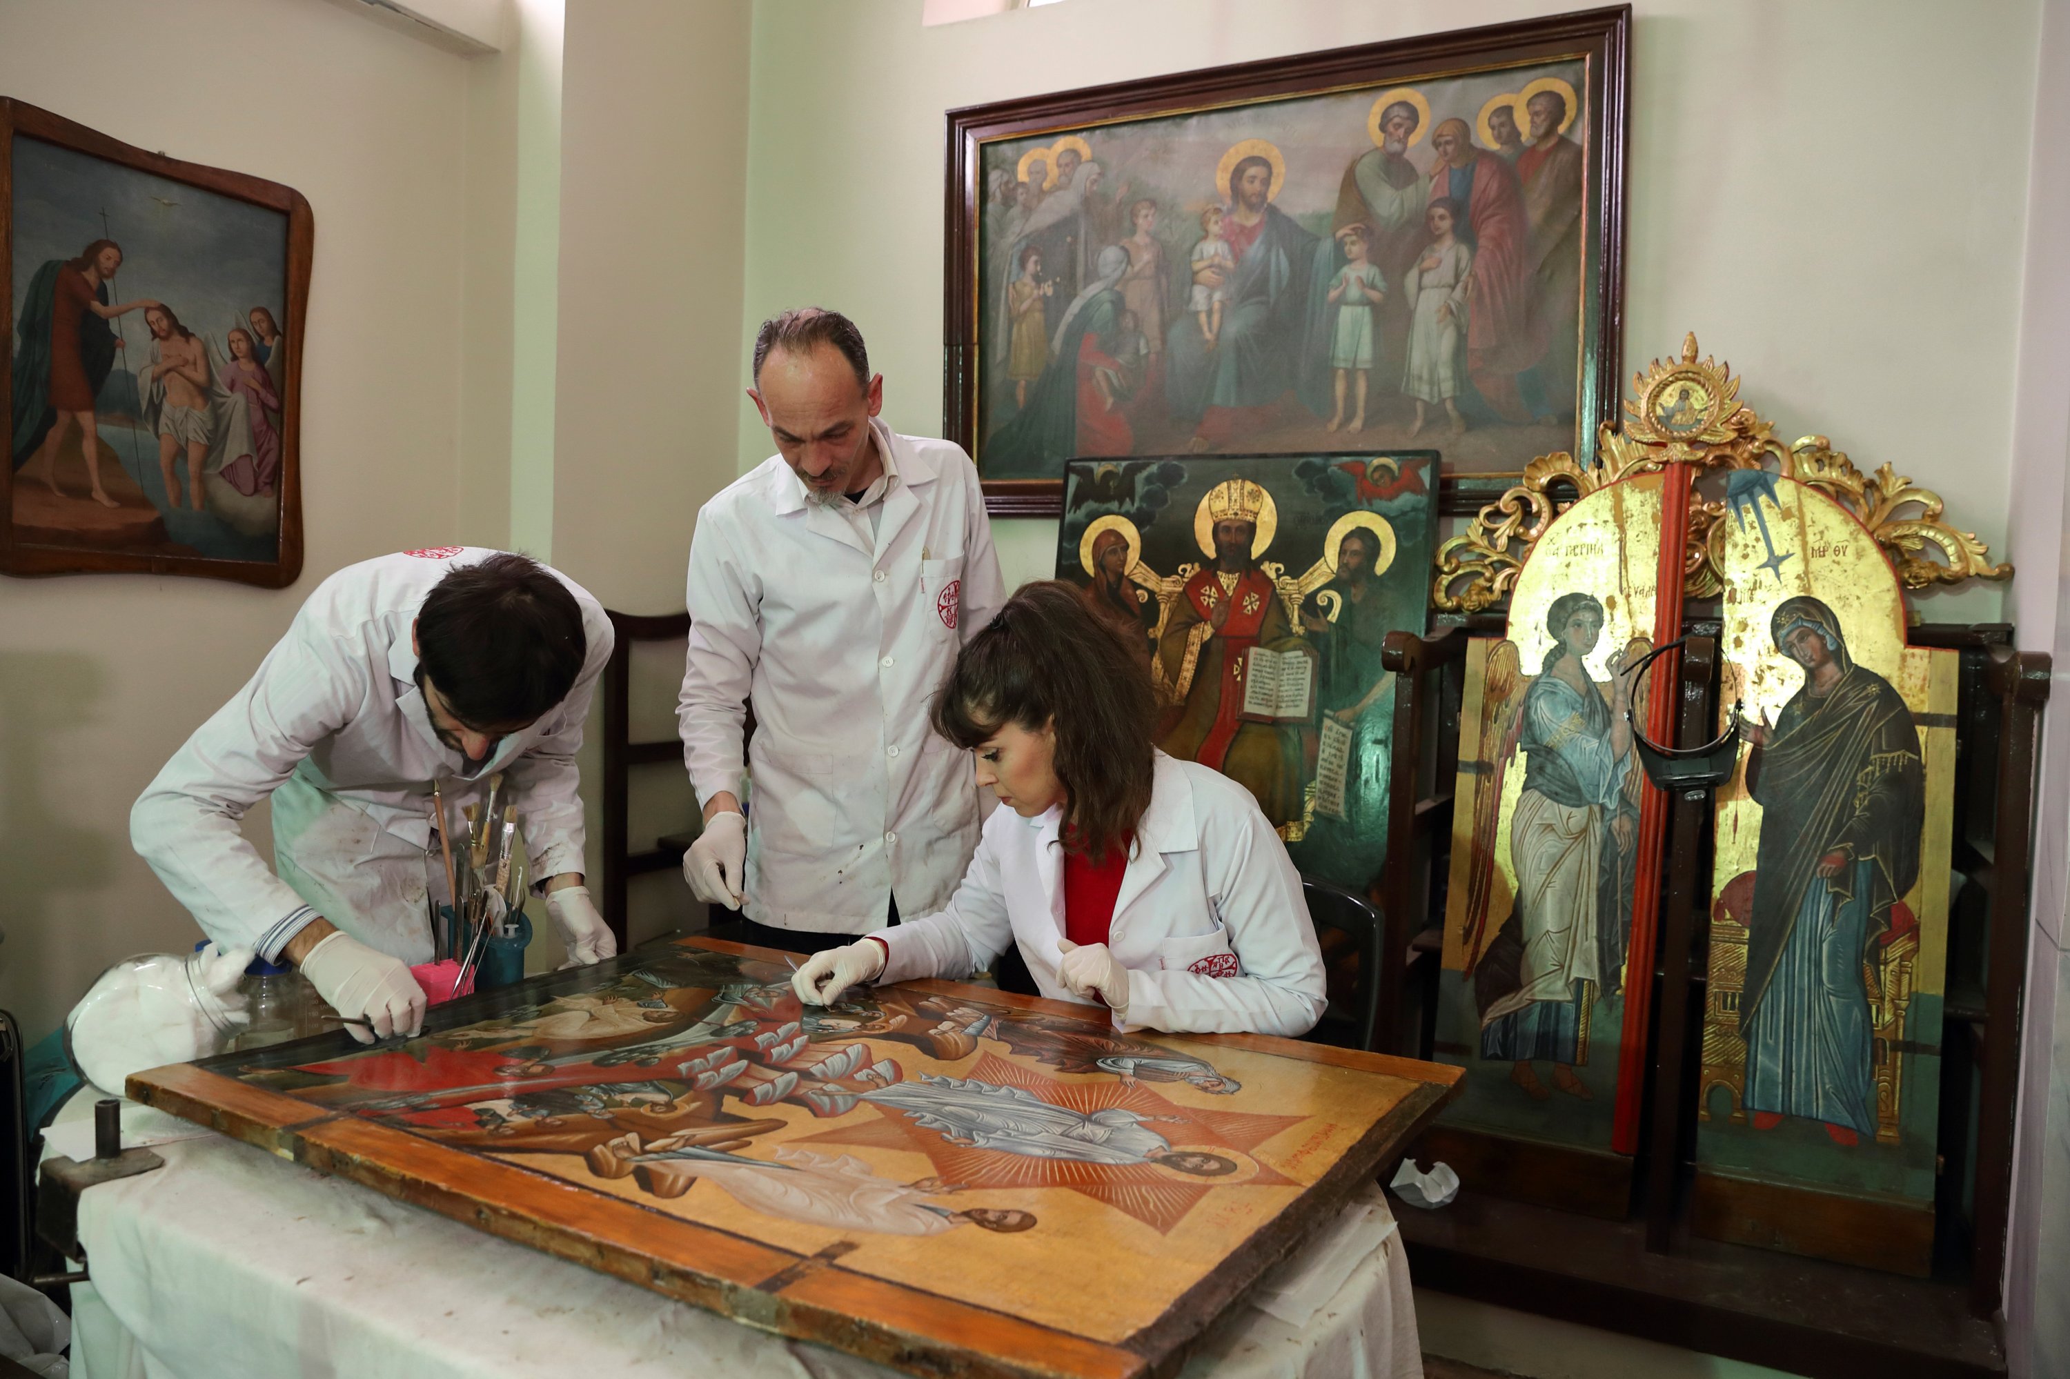
[[[0,91],[286,182],[317,226],[302,580],[0,580],[0,1004],[33,1035],[110,961],[199,938],[128,847],[145,783],[317,580],[453,530],[466,66],[306,0],[8,0]]]

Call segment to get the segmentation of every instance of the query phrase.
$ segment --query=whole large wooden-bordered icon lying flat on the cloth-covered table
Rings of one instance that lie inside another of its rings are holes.
[[[443,1006],[416,1039],[335,1033],[128,1093],[915,1375],[1128,1379],[1174,1373],[1455,1079],[942,981],[801,1006],[780,952],[673,940]]]

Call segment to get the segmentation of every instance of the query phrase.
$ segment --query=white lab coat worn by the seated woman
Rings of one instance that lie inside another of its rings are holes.
[[[1062,816],[996,810],[948,909],[878,930],[890,948],[878,981],[967,977],[1018,942],[1043,996],[1083,1002],[1056,977]],[[1323,950],[1300,872],[1250,791],[1199,762],[1157,754],[1107,948],[1128,969],[1120,1029],[1296,1037],[1323,1019]]]

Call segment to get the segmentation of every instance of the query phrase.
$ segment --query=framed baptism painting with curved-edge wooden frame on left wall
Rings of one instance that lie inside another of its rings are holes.
[[[302,571],[308,201],[0,97],[0,574]]]

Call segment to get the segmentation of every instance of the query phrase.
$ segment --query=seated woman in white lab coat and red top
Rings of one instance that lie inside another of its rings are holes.
[[[1302,1035],[1323,955],[1300,874],[1250,793],[1157,752],[1143,658],[1060,582],[963,646],[934,729],[1002,810],[948,909],[805,963],[811,1004],[857,981],[965,977],[1021,946],[1043,996],[1118,1029]]]

